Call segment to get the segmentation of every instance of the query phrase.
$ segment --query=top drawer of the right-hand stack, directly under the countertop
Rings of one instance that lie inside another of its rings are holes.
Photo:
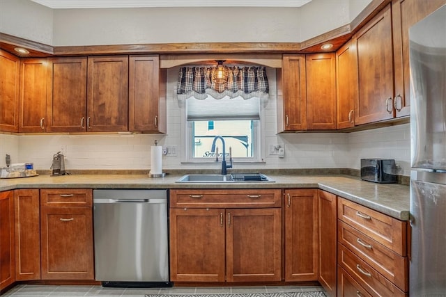
[[[383,246],[406,256],[406,222],[339,198],[338,218]]]

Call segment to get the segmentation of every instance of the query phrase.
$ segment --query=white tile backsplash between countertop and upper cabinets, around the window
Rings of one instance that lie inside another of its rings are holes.
[[[51,166],[52,155],[66,147],[66,168],[149,170],[151,146],[181,143],[181,109],[176,99],[178,67],[168,71],[167,134],[10,135],[0,134],[0,166],[6,154],[14,163],[33,162],[34,168]],[[410,175],[410,129],[398,125],[353,133],[277,134],[275,72],[268,71],[270,99],[265,108],[265,145],[283,143],[285,156],[265,156],[265,163],[237,164],[234,168],[360,168],[361,158],[395,159],[401,175]],[[163,170],[210,168],[217,164],[184,164],[181,156],[163,156]]]

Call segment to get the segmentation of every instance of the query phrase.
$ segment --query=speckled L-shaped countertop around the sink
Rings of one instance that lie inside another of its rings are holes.
[[[409,186],[374,184],[346,175],[270,175],[275,182],[177,183],[181,175],[39,175],[0,179],[0,191],[16,188],[321,188],[399,220],[409,219]]]

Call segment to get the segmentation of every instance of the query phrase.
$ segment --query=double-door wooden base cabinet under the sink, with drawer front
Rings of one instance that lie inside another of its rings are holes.
[[[219,193],[231,197],[228,207],[224,199],[218,208],[208,207]],[[191,207],[170,209],[171,281],[280,281],[280,195],[280,190],[171,190],[171,206]],[[274,198],[277,207],[262,208],[256,200],[264,196]]]

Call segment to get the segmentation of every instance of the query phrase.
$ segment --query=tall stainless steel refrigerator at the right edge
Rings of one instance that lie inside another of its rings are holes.
[[[409,38],[410,296],[446,296],[446,5]]]

